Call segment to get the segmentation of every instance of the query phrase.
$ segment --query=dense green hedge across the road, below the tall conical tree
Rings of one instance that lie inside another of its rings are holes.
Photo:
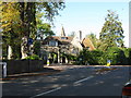
[[[78,56],[76,64],[86,65],[90,63],[91,65],[106,65],[107,60],[111,60],[112,65],[128,64],[126,52],[129,53],[129,49],[127,51],[123,51],[123,49],[117,47],[111,47],[107,51],[102,51],[98,49],[88,51],[87,49],[84,49]]]

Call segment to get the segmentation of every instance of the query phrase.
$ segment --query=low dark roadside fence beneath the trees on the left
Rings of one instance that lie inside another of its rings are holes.
[[[7,75],[35,72],[44,69],[43,60],[8,60],[4,62],[7,62]]]

